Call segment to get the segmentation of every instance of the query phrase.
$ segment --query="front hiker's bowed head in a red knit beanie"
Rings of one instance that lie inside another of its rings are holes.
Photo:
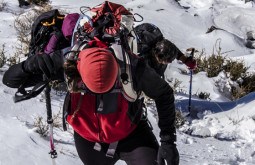
[[[94,93],[105,93],[115,85],[118,64],[104,48],[88,48],[79,53],[77,69],[86,87]]]

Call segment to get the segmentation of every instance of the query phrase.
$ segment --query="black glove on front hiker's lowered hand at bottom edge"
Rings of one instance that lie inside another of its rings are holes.
[[[179,165],[179,152],[170,135],[161,136],[161,146],[158,151],[158,165]]]

